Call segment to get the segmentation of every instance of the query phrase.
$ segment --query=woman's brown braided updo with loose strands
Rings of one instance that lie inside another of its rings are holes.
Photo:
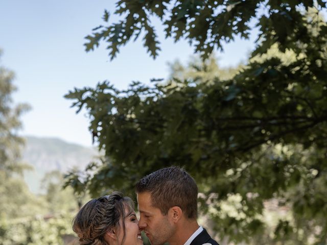
[[[80,245],[108,245],[104,235],[111,228],[121,229],[125,239],[125,207],[134,209],[134,203],[121,192],[92,199],[86,203],[73,219],[73,231],[77,233]],[[121,242],[121,244],[123,243]],[[111,244],[110,244],[111,245]]]

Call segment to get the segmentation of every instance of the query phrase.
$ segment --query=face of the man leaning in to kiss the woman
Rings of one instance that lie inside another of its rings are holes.
[[[162,215],[159,208],[152,206],[150,192],[137,193],[137,205],[140,213],[138,226],[149,238],[152,245],[169,242],[175,233],[175,227],[169,214]]]

